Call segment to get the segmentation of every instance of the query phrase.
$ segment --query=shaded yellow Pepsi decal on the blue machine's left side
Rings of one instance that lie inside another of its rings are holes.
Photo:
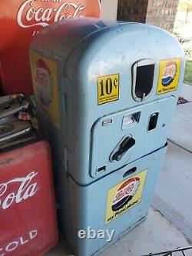
[[[37,105],[45,112],[51,123],[60,128],[57,63],[32,51],[30,62]]]

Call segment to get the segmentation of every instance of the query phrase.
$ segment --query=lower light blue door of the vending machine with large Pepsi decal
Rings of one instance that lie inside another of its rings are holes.
[[[65,226],[61,229],[74,254],[89,256],[103,250],[144,221],[166,149],[154,151],[88,186],[78,185],[68,175],[71,233],[66,233]],[[78,231],[88,231],[88,227],[94,231],[114,230],[111,243],[99,238],[92,242],[80,239]]]

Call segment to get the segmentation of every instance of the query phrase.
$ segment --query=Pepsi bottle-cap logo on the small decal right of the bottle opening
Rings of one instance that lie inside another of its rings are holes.
[[[177,73],[177,64],[176,62],[168,62],[164,68],[162,76],[162,85],[170,85],[174,81],[175,75]]]

